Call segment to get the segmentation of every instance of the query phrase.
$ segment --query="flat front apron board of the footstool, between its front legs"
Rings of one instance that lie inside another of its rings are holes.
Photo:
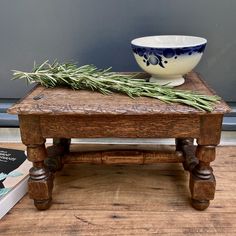
[[[199,137],[199,117],[153,116],[41,116],[44,137],[64,138],[173,138]]]

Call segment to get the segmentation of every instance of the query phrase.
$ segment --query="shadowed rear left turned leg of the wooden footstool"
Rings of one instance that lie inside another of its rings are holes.
[[[70,150],[70,139],[54,138],[53,145],[47,148],[48,158],[45,160],[50,171],[55,172],[63,168],[63,156]]]

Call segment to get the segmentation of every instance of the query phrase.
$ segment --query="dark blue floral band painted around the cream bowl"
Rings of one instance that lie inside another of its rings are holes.
[[[132,50],[135,54],[143,57],[143,62],[146,66],[159,65],[165,68],[165,64],[168,63],[168,59],[177,59],[178,56],[192,55],[194,53],[203,53],[206,47],[206,43],[193,47],[183,48],[151,48],[151,47],[140,47],[132,44]]]

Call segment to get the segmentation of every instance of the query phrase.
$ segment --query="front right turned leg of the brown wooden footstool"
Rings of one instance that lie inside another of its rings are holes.
[[[196,157],[199,164],[190,174],[192,206],[206,209],[214,199],[216,180],[210,163],[215,160],[216,146],[220,143],[223,115],[208,114],[200,118],[200,136],[197,139]]]

